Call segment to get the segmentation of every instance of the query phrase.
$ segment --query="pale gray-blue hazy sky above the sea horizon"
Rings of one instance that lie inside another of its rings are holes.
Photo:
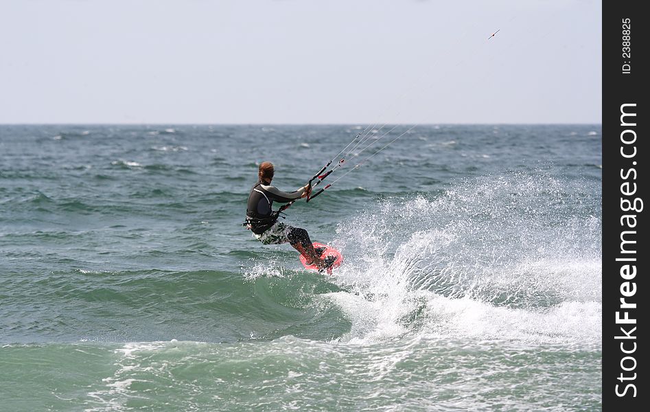
[[[0,0],[0,123],[601,123],[601,7]]]

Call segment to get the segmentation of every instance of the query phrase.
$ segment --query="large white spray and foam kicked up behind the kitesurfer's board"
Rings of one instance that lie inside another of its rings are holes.
[[[583,194],[544,176],[515,177],[388,201],[341,223],[334,246],[346,263],[334,279],[347,289],[323,299],[351,320],[343,340],[426,334],[597,345],[600,220],[564,207]]]

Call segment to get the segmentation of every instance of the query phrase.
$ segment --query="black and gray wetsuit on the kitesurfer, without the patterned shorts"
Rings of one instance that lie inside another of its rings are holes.
[[[300,189],[295,192],[282,192],[277,187],[267,185],[262,181],[258,181],[253,185],[251,194],[248,195],[248,205],[246,207],[246,222],[250,225],[251,230],[256,235],[261,235],[270,227],[275,225],[278,215],[277,211],[273,211],[273,202],[289,203],[299,199],[305,190]],[[288,227],[287,239],[290,244],[301,242],[303,244],[311,244],[309,235],[305,229],[297,227]]]

